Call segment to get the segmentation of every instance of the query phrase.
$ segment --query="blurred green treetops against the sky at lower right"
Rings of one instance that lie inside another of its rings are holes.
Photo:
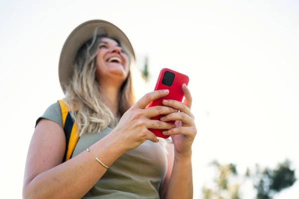
[[[202,188],[204,199],[241,199],[240,187],[247,180],[254,182],[257,191],[256,199],[273,199],[275,194],[289,188],[296,182],[295,170],[291,169],[291,162],[285,160],[279,163],[275,169],[261,168],[255,165],[256,172],[247,168],[245,175],[239,175],[237,165],[223,164],[214,160],[211,166],[216,168],[217,176],[214,180],[215,189]],[[236,182],[236,183],[231,183]]]

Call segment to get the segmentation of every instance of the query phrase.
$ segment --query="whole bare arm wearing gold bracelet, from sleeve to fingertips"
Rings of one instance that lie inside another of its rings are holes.
[[[121,118],[117,127],[107,136],[84,151],[62,163],[65,136],[62,127],[42,119],[33,133],[24,174],[24,199],[81,199],[105,174],[99,158],[110,166],[123,153],[137,148],[146,140],[158,142],[148,128],[171,129],[173,124],[150,120],[160,114],[176,112],[165,106],[145,109],[152,100],[166,96],[160,90],[148,93]]]

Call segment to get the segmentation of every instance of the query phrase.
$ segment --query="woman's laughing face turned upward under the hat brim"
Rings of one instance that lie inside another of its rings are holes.
[[[100,84],[122,85],[129,74],[129,58],[119,43],[111,38],[101,38],[96,57],[96,76]]]

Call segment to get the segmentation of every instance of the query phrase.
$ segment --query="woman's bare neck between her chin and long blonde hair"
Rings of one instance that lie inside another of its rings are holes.
[[[120,88],[111,84],[102,84],[101,92],[105,104],[111,109],[114,115],[118,114]]]

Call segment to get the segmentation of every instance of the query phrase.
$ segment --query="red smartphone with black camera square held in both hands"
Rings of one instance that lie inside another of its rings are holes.
[[[153,100],[152,102],[150,102],[148,107],[163,106],[162,104],[163,99],[171,99],[171,100],[177,100],[181,102],[184,97],[184,92],[182,90],[183,83],[188,85],[189,77],[187,75],[176,72],[169,68],[163,68],[160,71],[154,90],[168,89],[169,94],[166,95],[165,97],[161,97],[159,99]],[[160,120],[161,116],[162,115],[158,115],[150,119]],[[175,121],[168,121],[168,122],[174,124]],[[169,136],[165,136],[162,134],[162,129],[149,129],[149,131],[154,133],[157,137],[169,138]]]

